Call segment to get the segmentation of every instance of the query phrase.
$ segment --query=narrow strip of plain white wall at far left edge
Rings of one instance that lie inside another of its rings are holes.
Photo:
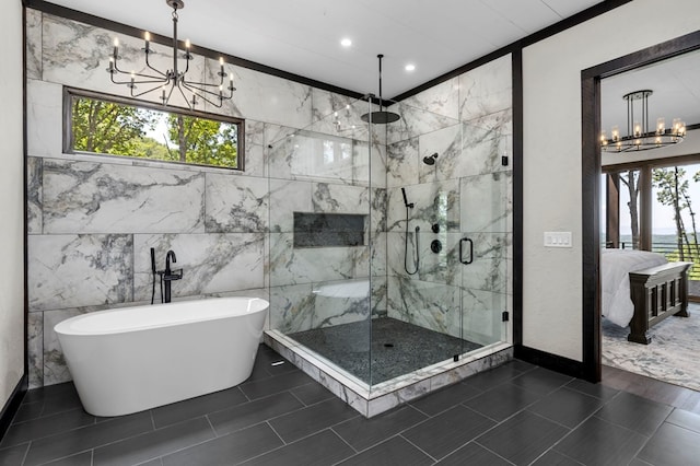
[[[22,3],[4,2],[0,15],[0,409],[24,372],[22,27]]]

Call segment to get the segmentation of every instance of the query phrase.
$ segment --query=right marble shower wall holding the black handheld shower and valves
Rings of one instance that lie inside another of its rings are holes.
[[[387,133],[388,315],[483,345],[502,340],[501,313],[512,307],[512,164],[501,163],[512,155],[511,57],[396,108],[402,118]],[[422,162],[434,153],[434,165]],[[401,188],[415,203],[408,229]],[[469,265],[459,261],[465,237]]]

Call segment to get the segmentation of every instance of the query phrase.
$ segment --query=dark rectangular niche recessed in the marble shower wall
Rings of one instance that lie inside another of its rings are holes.
[[[364,246],[366,215],[294,212],[294,247]]]

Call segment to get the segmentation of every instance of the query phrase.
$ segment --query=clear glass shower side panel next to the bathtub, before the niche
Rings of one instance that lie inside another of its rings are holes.
[[[369,381],[375,194],[369,132],[360,119],[368,104],[317,104],[319,113],[328,110],[306,128],[266,128],[270,327],[298,349]]]

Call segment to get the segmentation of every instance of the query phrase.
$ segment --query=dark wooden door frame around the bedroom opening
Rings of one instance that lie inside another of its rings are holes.
[[[583,267],[583,371],[600,381],[600,80],[700,49],[700,31],[616,58],[581,72],[581,176]]]

